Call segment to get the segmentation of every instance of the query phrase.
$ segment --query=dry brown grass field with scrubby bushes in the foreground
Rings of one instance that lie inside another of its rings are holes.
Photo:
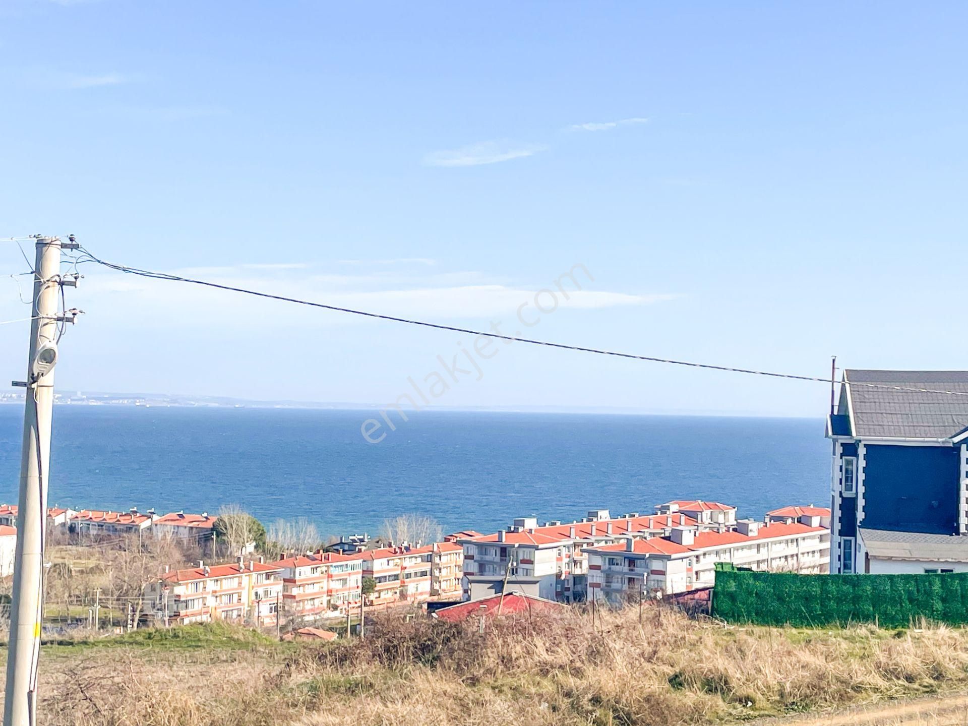
[[[968,630],[731,627],[565,610],[453,625],[380,616],[364,641],[54,649],[49,726],[700,724],[968,687]]]

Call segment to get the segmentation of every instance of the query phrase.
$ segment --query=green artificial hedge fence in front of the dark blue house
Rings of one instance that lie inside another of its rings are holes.
[[[968,623],[968,573],[796,575],[716,565],[712,615],[759,625]]]

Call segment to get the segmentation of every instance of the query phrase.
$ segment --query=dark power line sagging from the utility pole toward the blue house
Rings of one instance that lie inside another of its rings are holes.
[[[321,308],[322,310],[330,310],[336,313],[348,313],[349,315],[363,316],[365,318],[377,318],[380,320],[391,320],[393,322],[403,322],[408,325],[419,325],[427,328],[435,328],[437,330],[447,330],[454,333],[467,333],[468,335],[482,335],[488,338],[497,338],[499,340],[514,342],[514,343],[527,343],[531,346],[544,346],[545,348],[560,348],[562,350],[576,350],[578,352],[585,353],[595,353],[597,355],[609,355],[617,358],[629,358],[631,360],[642,360],[649,361],[651,363],[666,363],[674,366],[686,366],[689,368],[700,368],[709,371],[724,371],[727,373],[741,373],[750,376],[765,376],[768,378],[786,378],[788,380],[806,380],[816,383],[837,383],[843,382],[846,385],[862,386],[865,388],[881,388],[894,391],[912,391],[918,393],[938,393],[950,396],[968,396],[968,391],[943,391],[934,390],[931,388],[914,388],[908,386],[898,386],[889,385],[887,383],[865,383],[865,382],[853,382],[853,381],[837,381],[835,378],[821,378],[818,376],[801,376],[798,374],[789,373],[775,373],[772,371],[758,371],[750,368],[735,368],[733,366],[719,366],[712,365],[710,363],[694,363],[692,361],[685,360],[675,360],[673,358],[660,358],[653,355],[636,355],[634,353],[623,353],[616,350],[605,350],[602,348],[588,348],[585,346],[569,346],[563,343],[551,343],[549,341],[539,341],[533,338],[520,338],[513,335],[502,335],[500,333],[487,332],[483,330],[471,330],[469,328],[456,327],[454,325],[441,325],[436,322],[427,322],[426,320],[415,320],[412,318],[399,318],[397,316],[382,315],[379,313],[369,313],[362,310],[353,310],[352,308],[343,308],[337,305],[326,305],[323,303],[312,302],[309,300],[300,300],[295,297],[287,297],[285,295],[275,295],[269,292],[260,292],[258,290],[247,289],[245,287],[233,287],[230,285],[222,285],[220,283],[212,283],[205,280],[195,280],[193,278],[182,277],[180,275],[171,275],[166,272],[153,272],[151,270],[142,270],[137,267],[129,267],[128,265],[116,264],[114,262],[107,262],[100,257],[96,257],[85,247],[80,246],[78,249],[86,257],[80,257],[75,260],[75,264],[82,264],[84,262],[97,262],[104,267],[107,267],[118,272],[123,272],[129,275],[137,275],[139,277],[151,278],[154,280],[166,280],[170,282],[178,283],[190,283],[192,285],[199,285],[202,287],[215,287],[217,289],[224,289],[230,292],[241,292],[247,295],[254,295],[256,297],[263,297],[269,300],[280,300],[282,302],[295,303],[297,305],[307,305],[313,308]]]

